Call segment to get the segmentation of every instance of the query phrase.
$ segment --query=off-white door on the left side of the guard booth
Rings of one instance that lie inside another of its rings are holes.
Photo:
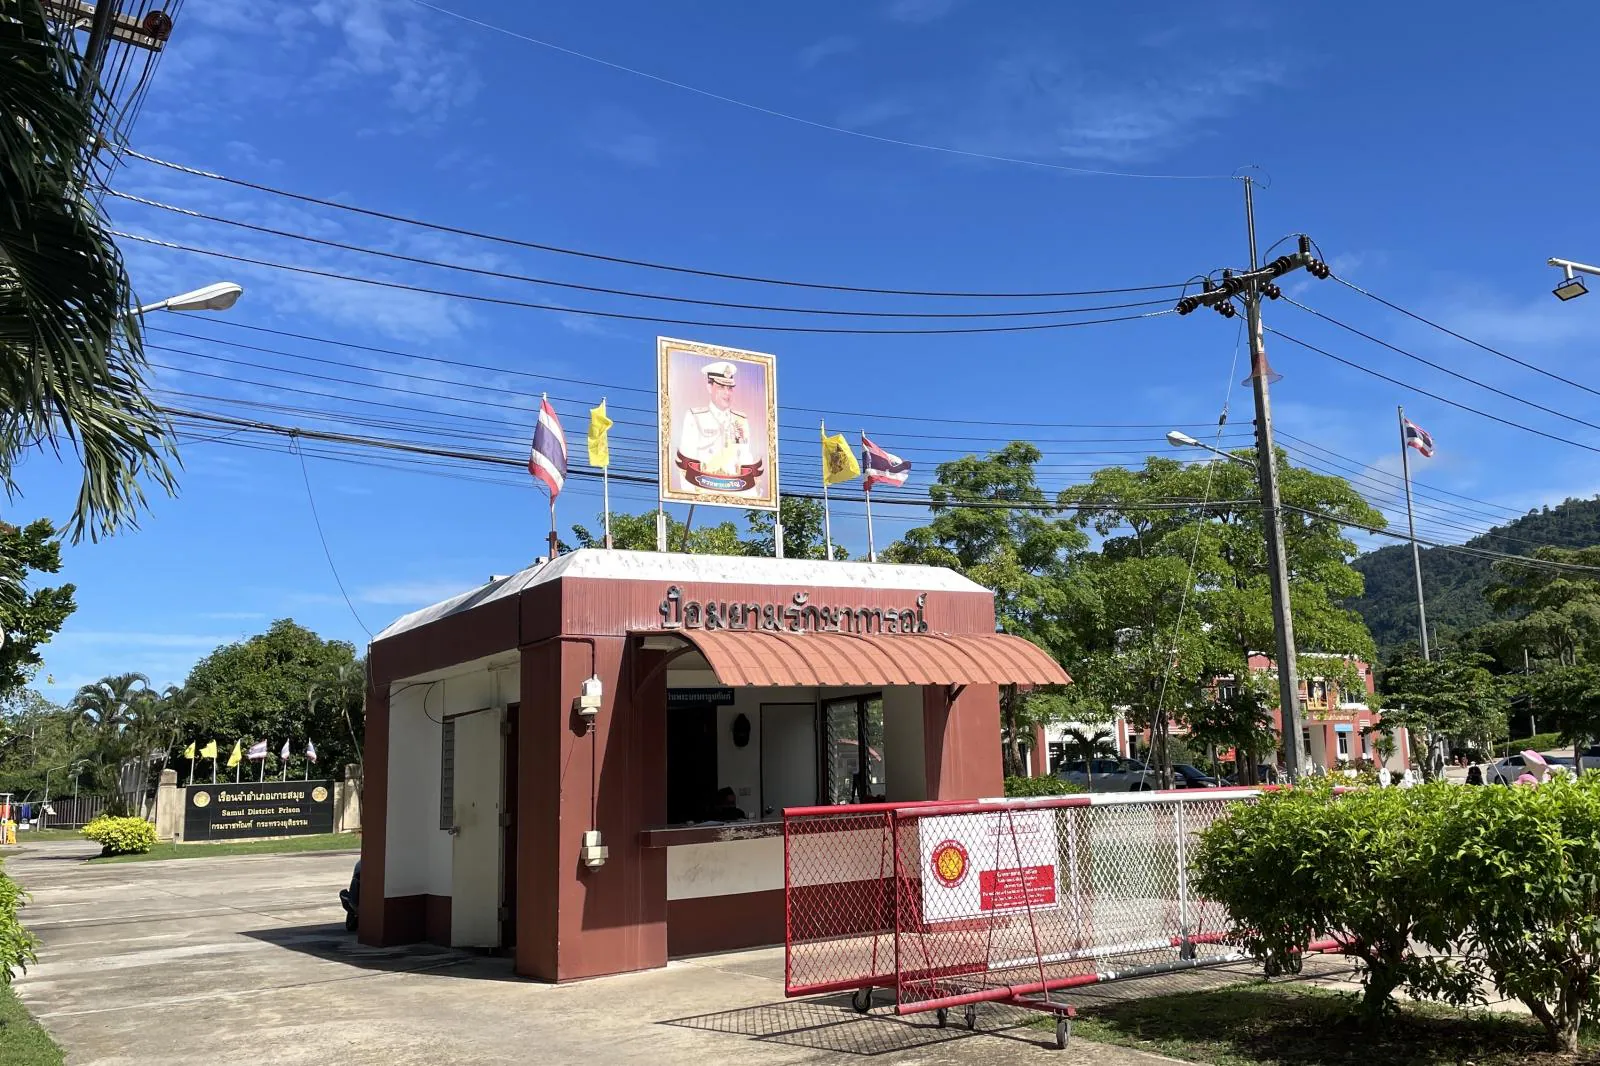
[[[499,946],[502,711],[456,717],[450,944]]]

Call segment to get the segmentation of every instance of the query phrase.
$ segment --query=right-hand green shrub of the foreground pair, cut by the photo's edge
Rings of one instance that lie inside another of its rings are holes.
[[[1600,1016],[1600,779],[1454,792],[1427,938],[1459,943],[1554,1048],[1576,1052],[1584,1018]]]

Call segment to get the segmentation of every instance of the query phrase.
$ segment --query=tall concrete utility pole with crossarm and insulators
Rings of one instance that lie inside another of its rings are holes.
[[[1238,296],[1245,301],[1246,325],[1250,330],[1250,383],[1256,400],[1256,477],[1261,482],[1262,527],[1267,539],[1267,581],[1272,587],[1272,632],[1277,643],[1278,667],[1278,706],[1283,722],[1283,768],[1290,781],[1298,781],[1304,773],[1301,746],[1301,706],[1299,706],[1299,669],[1294,663],[1294,618],[1290,610],[1290,563],[1283,547],[1283,503],[1278,496],[1278,455],[1272,442],[1272,397],[1269,386],[1277,379],[1272,367],[1267,365],[1267,346],[1261,327],[1261,298],[1277,299],[1283,293],[1274,282],[1290,271],[1304,267],[1315,277],[1328,277],[1328,264],[1314,258],[1310,238],[1304,234],[1299,238],[1299,250],[1294,254],[1278,256],[1272,262],[1258,266],[1256,253],[1256,197],[1254,181],[1245,182],[1245,230],[1250,237],[1250,269],[1245,274],[1222,271],[1222,283],[1214,285],[1210,277],[1202,283],[1202,291],[1195,296],[1184,296],[1178,301],[1178,314],[1187,315],[1195,307],[1211,307],[1224,319],[1232,319],[1238,311],[1232,299]]]

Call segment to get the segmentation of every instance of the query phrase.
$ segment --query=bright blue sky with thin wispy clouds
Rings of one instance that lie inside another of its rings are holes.
[[[1248,11],[974,0],[440,6],[754,107],[466,24],[413,0],[195,2],[181,13],[133,146],[267,186],[550,245],[765,277],[958,291],[1094,290],[1240,266],[1240,187],[1226,176],[1254,163],[1270,181],[1258,195],[1264,245],[1309,232],[1354,283],[1600,386],[1589,359],[1600,299],[1558,304],[1549,295],[1555,271],[1544,266],[1552,254],[1600,259],[1600,224],[1586,197],[1600,147],[1589,134],[1584,91],[1558,80],[1592,59],[1600,14],[1582,5],[1560,16],[1459,3]],[[1203,178],[1086,176],[1059,166]],[[123,166],[115,187],[283,230],[587,285],[813,307],[973,309],[971,301],[779,290],[541,254],[139,162]],[[542,304],[634,314],[661,307],[109,203],[128,232],[253,258]],[[410,431],[435,442],[454,432],[461,445],[514,455],[526,447],[518,443],[531,432],[526,410],[542,389],[560,397],[574,443],[584,410],[603,394],[622,423],[618,448],[638,466],[653,434],[654,338],[666,333],[776,354],[782,480],[806,491],[816,487],[814,411],[834,411],[834,427],[866,427],[914,459],[914,485],[926,485],[939,459],[1022,435],[1050,442],[1043,480],[1059,488],[1094,466],[1166,451],[1160,435],[1171,424],[1200,434],[1224,395],[1235,431],[1248,431],[1243,370],[1230,371],[1237,322],[1208,312],[976,336],[789,335],[600,320],[133,242],[125,250],[144,299],[218,279],[246,287],[226,315],[152,319],[155,384],[189,394],[182,402],[190,407],[285,424]],[[1334,282],[1299,275],[1285,288],[1392,344],[1600,423],[1594,394],[1453,341]],[[1003,307],[1093,303],[1110,301]],[[678,311],[688,314],[658,314],[797,322]],[[1442,395],[1600,442],[1600,432],[1450,379],[1294,307],[1269,306],[1267,322]],[[1418,469],[1427,491],[1493,504],[1443,496],[1440,504],[1461,509],[1426,512],[1429,536],[1464,539],[1494,517],[1600,491],[1590,451],[1408,394],[1280,339],[1269,338],[1269,351],[1283,375],[1274,392],[1283,432],[1374,464],[1378,472],[1366,475],[1382,483],[1398,469],[1394,410],[1405,403],[1438,442],[1438,456]],[[371,419],[394,424],[373,427]],[[1059,427],[1024,431],[1016,423]],[[1136,427],[1077,427],[1107,423]],[[574,447],[574,459],[578,453]],[[40,675],[46,693],[64,698],[125,669],[178,682],[214,645],[282,616],[365,643],[363,626],[376,631],[530,563],[547,533],[544,496],[515,471],[490,474],[486,483],[440,467],[312,455],[302,475],[282,440],[253,437],[189,440],[182,456],[181,496],[155,499],[138,531],[69,547],[64,576],[78,584],[80,607],[46,650],[54,680],[46,685]],[[34,458],[21,480],[13,517],[64,517],[75,488],[70,466]],[[645,487],[613,495],[619,509],[653,504]],[[360,621],[334,584],[312,501]],[[598,487],[573,482],[560,499],[563,530],[592,525],[598,509]],[[880,517],[888,539],[918,515],[898,509]],[[864,549],[859,495],[835,506],[835,528],[850,547]]]

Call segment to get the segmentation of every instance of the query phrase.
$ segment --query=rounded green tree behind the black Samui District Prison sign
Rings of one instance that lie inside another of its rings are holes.
[[[296,757],[310,739],[328,773],[360,760],[365,664],[344,640],[285,618],[195,663],[184,690],[195,695],[187,739],[216,739],[222,751],[235,739],[266,739],[274,765],[283,739]]]

